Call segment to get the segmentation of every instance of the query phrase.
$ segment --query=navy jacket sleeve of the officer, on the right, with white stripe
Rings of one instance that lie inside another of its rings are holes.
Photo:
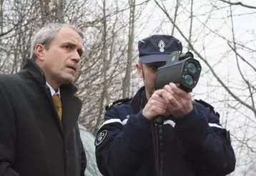
[[[210,108],[193,105],[192,112],[178,119],[175,133],[197,168],[198,175],[227,175],[235,170],[235,152],[229,132]],[[200,108],[200,107],[199,107]]]

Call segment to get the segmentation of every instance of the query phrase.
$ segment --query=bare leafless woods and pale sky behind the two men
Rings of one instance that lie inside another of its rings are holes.
[[[231,129],[238,168],[232,175],[250,175],[255,172],[250,162],[255,163],[256,150],[256,38],[252,23],[241,33],[243,26],[237,22],[255,16],[256,6],[248,3],[0,0],[0,73],[19,71],[29,58],[31,37],[44,24],[79,26],[85,50],[75,81],[83,102],[79,123],[95,133],[105,105],[133,95],[143,83],[133,67],[138,59],[136,41],[154,33],[177,36],[184,52],[195,53],[202,63],[193,95],[212,103],[222,124]]]

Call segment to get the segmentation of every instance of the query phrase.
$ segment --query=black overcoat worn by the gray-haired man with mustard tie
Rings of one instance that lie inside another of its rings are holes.
[[[84,175],[86,156],[77,119],[82,102],[72,85],[60,86],[58,118],[41,69],[30,60],[0,75],[0,175]]]

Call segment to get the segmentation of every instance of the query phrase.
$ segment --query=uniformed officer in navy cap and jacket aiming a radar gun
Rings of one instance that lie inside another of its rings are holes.
[[[224,176],[235,169],[229,132],[211,105],[193,101],[174,83],[154,90],[157,68],[172,51],[182,51],[173,36],[139,41],[136,66],[144,86],[133,98],[107,107],[95,139],[104,176]],[[164,116],[164,123],[152,135],[158,116]]]

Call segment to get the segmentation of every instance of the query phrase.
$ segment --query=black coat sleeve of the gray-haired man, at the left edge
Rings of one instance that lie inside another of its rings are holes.
[[[11,168],[11,165],[14,163],[15,140],[14,112],[0,83],[0,175],[19,176]]]

